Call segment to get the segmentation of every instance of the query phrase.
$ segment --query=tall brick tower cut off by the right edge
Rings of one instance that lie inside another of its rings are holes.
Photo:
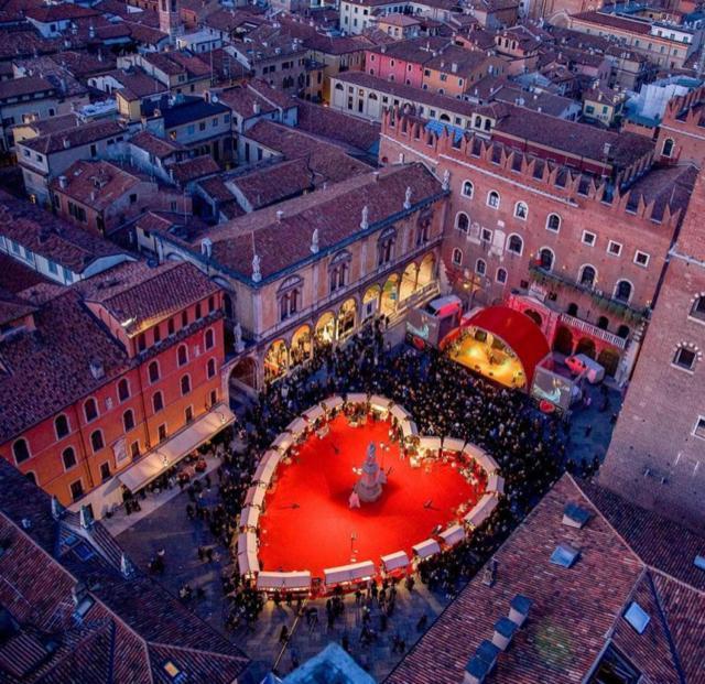
[[[664,515],[705,517],[705,177],[671,250],[600,480]]]

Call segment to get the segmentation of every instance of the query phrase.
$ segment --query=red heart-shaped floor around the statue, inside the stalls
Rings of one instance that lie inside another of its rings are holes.
[[[379,564],[380,556],[397,551],[411,557],[413,544],[436,525],[445,529],[455,521],[458,506],[476,503],[481,488],[476,490],[449,464],[434,463],[427,470],[402,460],[399,446],[390,445],[389,428],[388,421],[351,427],[339,415],[326,437],[310,436],[291,465],[280,464],[260,518],[262,569],[306,569],[323,577],[324,567]],[[391,467],[389,481],[380,499],[350,510],[348,498],[358,479],[354,468],[362,465],[370,442],[377,445],[379,465],[386,471]],[[429,500],[431,508],[424,508]]]

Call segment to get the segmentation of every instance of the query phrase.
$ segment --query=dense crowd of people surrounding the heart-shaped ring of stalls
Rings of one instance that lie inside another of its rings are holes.
[[[491,556],[562,471],[579,468],[566,460],[570,431],[560,417],[541,413],[524,393],[478,378],[442,351],[419,351],[410,347],[392,350],[384,341],[383,328],[383,323],[378,321],[345,346],[317,346],[315,358],[307,365],[269,384],[234,427],[243,447],[225,448],[223,453],[216,471],[218,504],[199,506],[198,485],[189,484],[186,511],[191,519],[207,523],[216,543],[232,549],[238,532],[237,515],[252,474],[276,435],[295,416],[332,394],[382,394],[412,413],[420,433],[457,437],[486,449],[500,464],[506,480],[507,496],[486,524],[453,550],[419,565],[419,579],[449,598]],[[226,444],[231,436],[225,437]],[[581,474],[589,474],[589,467]],[[209,479],[205,486],[210,487]],[[236,553],[234,549],[232,572],[223,579],[228,599],[226,623],[230,629],[252,626],[265,600],[239,577]],[[409,590],[413,589],[413,578],[411,582],[411,586],[406,585]],[[370,643],[388,631],[395,594],[394,583],[380,586],[371,583],[365,594],[360,593],[359,597],[356,594],[356,605],[359,608],[364,602],[364,616],[368,616],[364,617],[357,638],[359,644]],[[278,606],[282,600],[291,604],[293,598],[274,597]],[[375,623],[368,600],[375,606]],[[330,597],[326,602],[326,621],[321,625],[333,629],[345,605],[339,595]],[[308,614],[305,617],[310,619]],[[312,623],[313,618],[308,626]],[[317,626],[316,619],[314,627]],[[393,652],[403,652],[403,638],[399,633],[389,638]],[[288,639],[286,632],[284,643]],[[349,648],[347,633],[344,645]]]

